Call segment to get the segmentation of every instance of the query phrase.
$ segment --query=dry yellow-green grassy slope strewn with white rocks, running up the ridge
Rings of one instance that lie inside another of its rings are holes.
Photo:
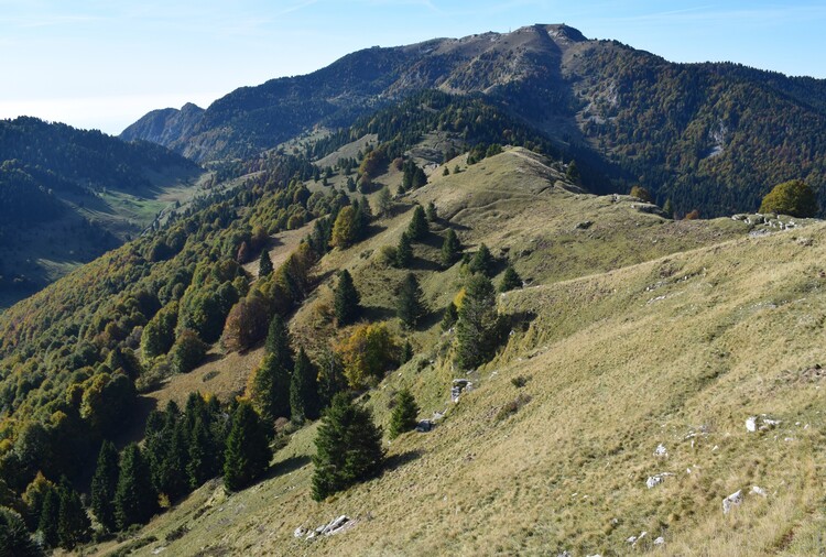
[[[672,555],[823,551],[823,381],[801,370],[826,357],[826,227],[752,239],[732,221],[666,222],[628,198],[547,187],[552,171],[524,156],[506,153],[416,193],[437,199],[466,243],[510,248],[535,284],[501,298],[503,310],[535,318],[471,374],[478,387],[449,404],[454,374],[437,357],[449,336],[420,330],[424,351],[368,404],[387,424],[392,393],[410,385],[423,416],[449,411],[433,433],[389,446],[381,478],[312,502],[311,426],[275,456],[270,479],[228,498],[214,482],[159,516],[143,532],[159,542],[138,555],[624,555],[651,550],[657,536],[659,553]],[[409,218],[380,221],[380,234],[322,263],[350,267],[373,315],[392,306],[387,285],[402,272],[370,250],[395,243]],[[574,231],[584,219],[593,227]],[[435,252],[416,247],[416,272],[441,307],[458,273],[430,271],[422,258]],[[324,288],[293,319],[300,339],[328,330],[313,318]],[[519,394],[532,400],[499,421]],[[746,418],[761,413],[782,423],[747,433]],[[660,443],[666,458],[653,456]],[[657,472],[675,476],[646,489]],[[748,495],[724,517],[721,498],[751,485],[768,496]],[[292,535],[340,514],[357,526],[314,542]],[[189,532],[165,542],[181,525]],[[626,539],[643,531],[632,549]]]

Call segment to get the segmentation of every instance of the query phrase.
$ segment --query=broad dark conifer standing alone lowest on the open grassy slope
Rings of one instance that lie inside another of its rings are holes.
[[[356,482],[376,476],[382,467],[381,428],[368,408],[338,393],[324,415],[313,457],[313,499],[322,501]]]

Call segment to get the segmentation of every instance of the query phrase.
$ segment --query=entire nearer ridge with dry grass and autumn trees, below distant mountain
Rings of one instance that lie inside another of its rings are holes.
[[[621,555],[661,536],[681,554],[718,547],[724,524],[726,553],[811,553],[823,225],[672,220],[595,195],[611,184],[577,166],[490,96],[434,90],[216,164],[208,196],[0,315],[2,504],[46,545],[100,555]],[[404,325],[411,281],[424,309]],[[479,284],[491,315],[467,364]],[[455,379],[474,383],[458,404]],[[402,387],[437,424],[391,443]],[[317,503],[319,411],[350,398],[384,427],[388,459]],[[747,435],[762,414],[774,429]],[[239,416],[274,456],[227,491],[231,455],[254,447]],[[104,450],[121,462],[108,500]],[[140,515],[122,502],[133,480]],[[765,499],[719,521],[751,485]],[[48,496],[91,507],[91,529],[50,538]],[[341,514],[357,522],[340,535],[294,535]]]

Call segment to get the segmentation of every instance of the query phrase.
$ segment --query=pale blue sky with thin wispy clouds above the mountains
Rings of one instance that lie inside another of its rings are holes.
[[[676,0],[0,0],[0,118],[119,133],[358,48],[567,23],[675,62],[826,78],[826,2]]]

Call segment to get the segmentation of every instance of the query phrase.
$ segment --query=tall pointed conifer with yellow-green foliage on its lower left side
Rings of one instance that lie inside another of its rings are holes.
[[[267,356],[250,378],[249,398],[267,424],[290,416],[290,380],[293,351],[284,319],[275,314],[264,345]]]

